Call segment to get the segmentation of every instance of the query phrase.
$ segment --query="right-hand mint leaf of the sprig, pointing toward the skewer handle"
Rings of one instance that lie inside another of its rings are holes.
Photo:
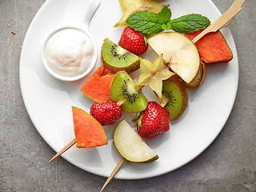
[[[205,29],[206,26],[210,25],[210,20],[201,14],[187,14],[170,20],[168,25],[178,33],[190,34]]]

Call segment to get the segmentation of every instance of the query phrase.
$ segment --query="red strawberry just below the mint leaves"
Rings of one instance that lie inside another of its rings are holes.
[[[144,54],[148,48],[144,37],[129,26],[122,31],[118,45],[136,55]]]

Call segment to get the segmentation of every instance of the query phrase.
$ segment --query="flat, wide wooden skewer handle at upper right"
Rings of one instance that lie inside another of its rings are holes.
[[[230,9],[227,10],[224,14],[222,14],[221,17],[219,17],[215,22],[213,22],[210,26],[206,28],[206,30],[203,30],[201,34],[198,34],[197,37],[195,37],[192,42],[197,42],[200,38],[202,38],[205,34],[208,34],[210,32],[215,32],[222,28],[222,26],[225,26],[226,22],[229,22],[231,18],[234,18],[234,15],[238,14],[238,12],[242,10],[241,6],[232,5],[230,6]]]

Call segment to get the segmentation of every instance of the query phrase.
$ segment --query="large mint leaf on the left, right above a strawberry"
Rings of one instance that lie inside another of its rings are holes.
[[[136,11],[126,19],[128,25],[134,30],[145,34],[157,34],[162,31],[162,22],[159,14],[146,10]]]

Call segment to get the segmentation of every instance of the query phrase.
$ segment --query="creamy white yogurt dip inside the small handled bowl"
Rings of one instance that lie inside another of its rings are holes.
[[[83,74],[91,65],[94,47],[81,30],[58,30],[46,42],[44,58],[50,69],[64,77]]]

